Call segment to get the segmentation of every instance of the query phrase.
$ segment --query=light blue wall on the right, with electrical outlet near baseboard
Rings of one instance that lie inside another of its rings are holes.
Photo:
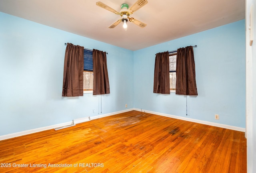
[[[188,45],[198,96],[187,97],[186,116],[186,96],[153,93],[153,83],[155,54]],[[245,92],[244,20],[134,51],[134,108],[245,128]]]

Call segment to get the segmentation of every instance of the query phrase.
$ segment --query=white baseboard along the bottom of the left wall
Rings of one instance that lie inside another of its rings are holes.
[[[61,124],[56,124],[56,125],[52,125],[52,126],[46,126],[46,127],[36,128],[36,129],[31,129],[31,130],[25,130],[25,131],[16,132],[16,133],[13,133],[13,134],[2,135],[2,136],[0,136],[0,141],[1,140],[7,140],[7,139],[10,139],[10,138],[16,138],[16,137],[24,136],[24,135],[28,135],[28,134],[33,134],[33,133],[37,133],[37,132],[42,132],[42,131],[45,131],[45,130],[61,128],[61,127],[64,127],[64,126],[72,126],[73,122],[74,122],[74,124],[78,124],[78,123],[82,123],[82,122],[86,122],[86,121],[90,121],[90,120],[95,120],[95,119],[98,119],[98,118],[103,118],[103,117],[106,117],[106,116],[120,114],[120,113],[123,113],[123,112],[129,112],[131,110],[134,110],[134,109],[126,109],[126,110],[121,110],[121,111],[118,111],[118,112],[112,112],[112,113],[109,113],[109,114],[78,118],[78,119],[75,119],[74,121],[70,121],[70,122],[65,122],[65,123],[61,123]]]

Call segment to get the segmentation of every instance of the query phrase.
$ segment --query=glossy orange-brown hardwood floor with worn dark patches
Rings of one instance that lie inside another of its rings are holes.
[[[246,173],[244,132],[138,111],[0,146],[1,173]]]

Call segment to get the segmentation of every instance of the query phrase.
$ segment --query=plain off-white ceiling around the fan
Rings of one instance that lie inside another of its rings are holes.
[[[130,15],[147,24],[140,28],[122,22],[108,10],[96,6],[101,1],[116,11],[121,4],[132,6],[136,0],[0,0],[0,12],[46,26],[62,29],[132,51],[242,20],[244,0],[148,0]],[[75,44],[75,43],[74,43]]]

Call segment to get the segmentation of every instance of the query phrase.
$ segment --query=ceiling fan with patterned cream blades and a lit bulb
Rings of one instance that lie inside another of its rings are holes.
[[[121,5],[121,10],[120,12],[114,10],[113,8],[107,6],[106,4],[102,3],[102,2],[96,2],[96,5],[104,8],[110,12],[113,12],[114,14],[118,14],[122,17],[122,19],[117,20],[116,22],[114,22],[114,24],[110,25],[108,28],[115,28],[118,24],[120,24],[120,22],[124,22],[124,29],[127,30],[127,22],[128,20],[136,25],[138,25],[140,28],[145,28],[146,24],[143,22],[140,22],[137,19],[134,18],[129,18],[129,16],[131,14],[133,14],[135,11],[137,11],[138,9],[140,9],[141,7],[143,7],[144,5],[146,5],[148,3],[147,0],[138,0],[135,4],[133,4],[130,8],[128,4],[122,4]]]

